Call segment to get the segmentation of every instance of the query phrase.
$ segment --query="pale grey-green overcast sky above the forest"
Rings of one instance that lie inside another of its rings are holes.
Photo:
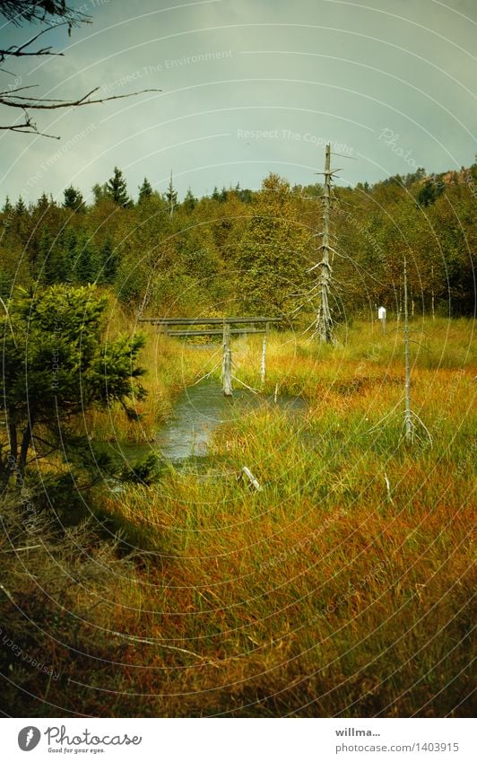
[[[179,196],[258,188],[270,171],[319,180],[332,143],[344,184],[468,166],[477,153],[475,0],[82,0],[92,24],[49,34],[64,57],[10,61],[45,97],[143,88],[131,99],[39,112],[61,140],[0,133],[3,202],[62,198],[115,165]],[[4,25],[5,38],[26,39]],[[46,38],[44,38],[46,44]],[[2,74],[4,88],[14,77]],[[12,119],[2,109],[2,124]]]

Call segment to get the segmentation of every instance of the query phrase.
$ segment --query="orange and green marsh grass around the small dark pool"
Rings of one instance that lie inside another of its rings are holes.
[[[269,402],[217,430],[201,469],[101,495],[111,538],[122,526],[140,549],[76,591],[82,627],[65,642],[88,655],[48,700],[114,716],[471,714],[472,324],[424,333],[412,402],[432,446],[403,442],[400,333],[355,323],[335,350],[279,334],[265,392],[278,383],[308,407],[291,417]],[[234,345],[256,386],[260,341]],[[158,346],[152,389],[167,407],[211,365]]]

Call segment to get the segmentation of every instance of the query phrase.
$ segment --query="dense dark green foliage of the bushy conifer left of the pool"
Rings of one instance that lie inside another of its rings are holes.
[[[34,442],[36,459],[58,450],[89,469],[90,443],[74,432],[75,416],[118,402],[131,416],[145,391],[136,364],[140,335],[102,342],[107,299],[92,287],[18,290],[2,317],[2,399],[8,448],[0,477],[22,478]],[[97,458],[92,459],[97,463]]]

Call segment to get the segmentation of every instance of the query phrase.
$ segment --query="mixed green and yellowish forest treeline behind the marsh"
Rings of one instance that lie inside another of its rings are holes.
[[[473,314],[477,164],[423,169],[356,188],[334,188],[334,315],[382,303],[402,309],[407,259],[413,309]],[[62,204],[8,197],[0,215],[0,293],[13,285],[98,283],[132,311],[196,314],[317,309],[321,187],[270,174],[258,191],[214,188],[179,202],[144,179],[137,201],[122,171]]]

